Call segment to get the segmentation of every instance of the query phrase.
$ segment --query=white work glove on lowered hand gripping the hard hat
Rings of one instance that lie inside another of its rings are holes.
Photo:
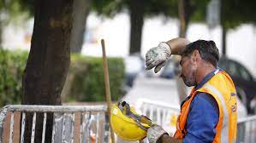
[[[149,129],[147,129],[146,137],[149,143],[157,143],[158,139],[167,132],[158,124],[153,124]]]

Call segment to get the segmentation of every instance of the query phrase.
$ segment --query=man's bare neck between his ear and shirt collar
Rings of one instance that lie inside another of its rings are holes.
[[[199,68],[198,71],[196,72],[196,83],[199,84],[202,82],[202,80],[204,79],[204,77],[209,74],[210,72],[212,72],[213,70],[215,70],[216,67],[209,64],[209,63],[203,63]]]

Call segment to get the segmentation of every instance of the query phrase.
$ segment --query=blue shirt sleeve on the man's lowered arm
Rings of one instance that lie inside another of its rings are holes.
[[[218,123],[217,101],[211,94],[199,93],[190,104],[184,143],[211,143]]]

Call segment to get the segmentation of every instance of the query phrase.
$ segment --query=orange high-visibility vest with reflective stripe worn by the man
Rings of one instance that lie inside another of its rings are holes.
[[[226,72],[217,70],[214,76],[206,82],[200,89],[192,89],[191,97],[182,105],[181,114],[176,123],[176,139],[183,139],[187,130],[185,125],[189,114],[189,106],[193,98],[198,92],[211,94],[217,101],[218,106],[218,123],[216,126],[216,135],[214,143],[233,143],[236,139],[236,92],[232,79]],[[204,110],[204,109],[202,109]]]

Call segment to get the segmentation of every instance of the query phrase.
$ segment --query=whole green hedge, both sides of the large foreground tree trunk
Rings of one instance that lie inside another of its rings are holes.
[[[24,51],[0,49],[0,106],[21,104],[27,56]],[[122,58],[108,58],[108,62],[112,100],[117,100],[124,94],[124,64]],[[72,54],[62,95],[63,101],[104,101],[102,58]]]

